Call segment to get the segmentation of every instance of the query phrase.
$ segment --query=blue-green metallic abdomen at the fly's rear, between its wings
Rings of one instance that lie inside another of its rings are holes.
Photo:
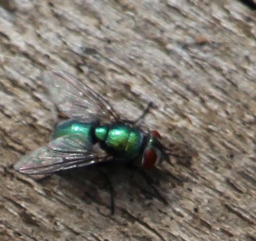
[[[60,122],[53,132],[51,139],[56,139],[60,136],[65,136],[69,134],[79,133],[85,135],[92,141],[92,128],[96,123],[84,123],[76,120],[67,120]]]

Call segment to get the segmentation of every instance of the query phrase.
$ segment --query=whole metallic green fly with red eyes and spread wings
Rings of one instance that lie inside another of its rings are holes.
[[[145,132],[138,125],[151,103],[136,120],[124,120],[105,98],[67,72],[46,72],[44,80],[53,102],[70,119],[57,124],[46,146],[21,157],[15,170],[48,174],[112,160],[151,168],[169,155],[183,156],[157,131]]]

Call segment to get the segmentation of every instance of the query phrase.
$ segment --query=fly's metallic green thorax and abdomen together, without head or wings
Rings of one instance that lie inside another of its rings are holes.
[[[84,134],[93,143],[99,142],[107,153],[124,160],[139,157],[144,140],[139,128],[123,123],[100,125],[98,122],[84,123],[76,120],[59,123],[52,139],[74,133]]]

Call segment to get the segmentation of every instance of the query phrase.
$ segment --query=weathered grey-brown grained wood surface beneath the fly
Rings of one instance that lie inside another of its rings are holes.
[[[1,240],[256,240],[256,13],[239,1],[1,1]],[[97,167],[41,181],[10,165],[49,140],[40,76],[69,71],[198,152],[148,180]],[[167,202],[167,203],[166,203]]]

